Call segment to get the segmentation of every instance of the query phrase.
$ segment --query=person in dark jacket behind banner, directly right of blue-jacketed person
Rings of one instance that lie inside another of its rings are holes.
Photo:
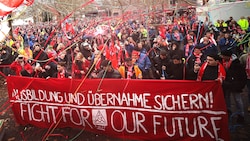
[[[161,50],[160,55],[156,56],[152,61],[152,70],[154,73],[154,77],[156,79],[167,79],[167,65],[170,59],[167,57],[167,51]]]

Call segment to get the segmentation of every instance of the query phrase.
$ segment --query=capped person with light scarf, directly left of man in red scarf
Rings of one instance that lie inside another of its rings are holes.
[[[202,47],[195,45],[192,55],[187,58],[185,66],[185,79],[196,80],[200,66],[205,62],[206,56],[201,52]]]

